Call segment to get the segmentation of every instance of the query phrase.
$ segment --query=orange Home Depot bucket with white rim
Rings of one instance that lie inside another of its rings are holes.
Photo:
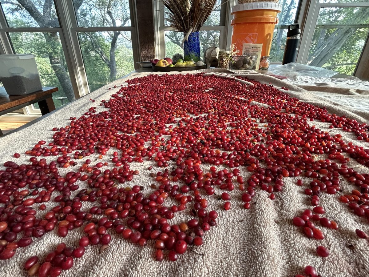
[[[244,43],[262,43],[262,56],[269,56],[273,30],[278,23],[277,14],[282,5],[271,2],[254,2],[232,7],[232,44],[242,53]]]

